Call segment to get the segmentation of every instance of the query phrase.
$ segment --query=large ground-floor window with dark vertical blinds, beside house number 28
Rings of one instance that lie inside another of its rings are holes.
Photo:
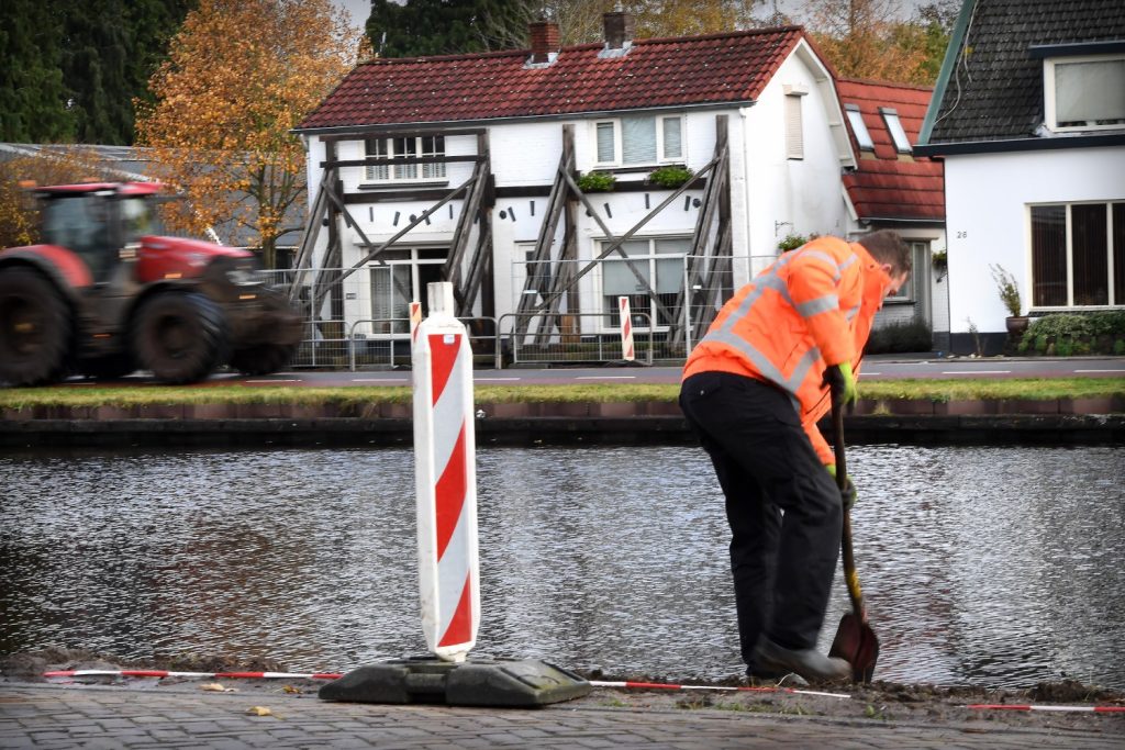
[[[1125,305],[1125,202],[1030,207],[1032,306]]]

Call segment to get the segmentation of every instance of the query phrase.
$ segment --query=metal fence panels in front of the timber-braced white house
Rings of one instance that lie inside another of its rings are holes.
[[[620,257],[606,257],[558,292],[552,291],[556,279],[573,279],[591,262],[512,263],[508,309],[498,310],[496,318],[461,318],[477,363],[501,369],[531,362],[620,361],[620,296],[629,297],[637,359],[682,360],[734,289],[774,259],[657,254],[630,260],[636,273]],[[407,302],[414,297],[412,274],[417,277],[423,266],[411,268],[270,271],[272,282],[306,311],[306,333],[291,367],[410,367]],[[500,288],[497,292],[503,293]]]

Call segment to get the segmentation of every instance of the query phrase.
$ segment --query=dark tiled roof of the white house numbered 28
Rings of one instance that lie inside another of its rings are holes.
[[[1030,47],[1125,39],[1122,0],[966,2],[928,118],[929,144],[1034,137],[1044,117],[1043,61]]]

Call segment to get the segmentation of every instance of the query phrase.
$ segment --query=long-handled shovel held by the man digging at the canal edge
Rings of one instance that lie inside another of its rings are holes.
[[[844,408],[840,404],[842,394],[832,387],[832,436],[836,451],[836,484],[840,489],[847,487],[847,463],[844,459]],[[870,683],[875,672],[875,661],[879,659],[879,639],[875,631],[867,624],[867,612],[863,607],[863,591],[860,589],[860,577],[855,572],[855,557],[852,553],[852,512],[844,508],[844,533],[840,537],[840,551],[844,558],[844,580],[847,582],[847,594],[852,599],[852,612],[840,617],[840,625],[832,639],[832,648],[828,656],[839,657],[852,665],[852,679],[856,683]]]

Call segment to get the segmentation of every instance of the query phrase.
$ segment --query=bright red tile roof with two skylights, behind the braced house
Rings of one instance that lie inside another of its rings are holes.
[[[860,107],[863,123],[875,145],[874,159],[862,157],[863,152],[860,151],[850,123],[848,124],[852,147],[855,153],[861,154],[861,159],[854,172],[844,174],[844,187],[860,218],[943,220],[945,179],[942,163],[925,156],[900,161],[879,111],[880,107],[894,109],[907,137],[915,144],[934,90],[898,83],[837,79],[836,91],[842,105]]]

